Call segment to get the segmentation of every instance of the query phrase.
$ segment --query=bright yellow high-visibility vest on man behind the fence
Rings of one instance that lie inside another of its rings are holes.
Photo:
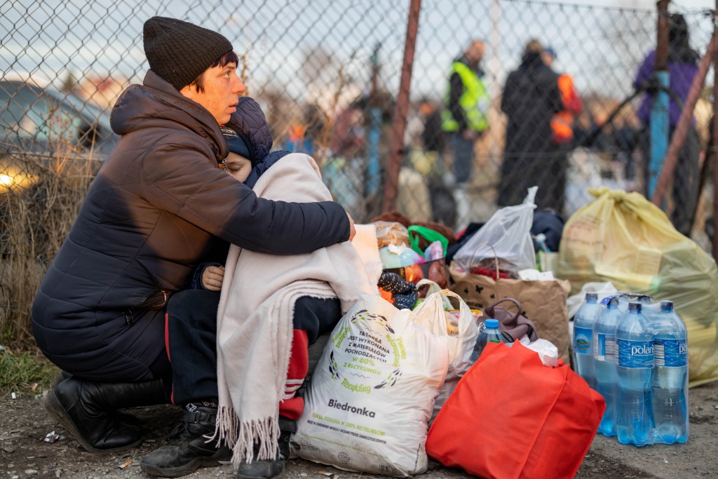
[[[484,83],[476,75],[475,71],[465,63],[454,62],[449,78],[454,75],[454,72],[459,74],[461,82],[464,84],[464,92],[459,97],[459,105],[466,115],[467,127],[475,131],[484,131],[489,126],[487,114],[491,103],[491,98]],[[442,129],[444,131],[459,131],[459,123],[454,120],[451,111],[449,111],[450,95],[449,86],[446,97],[447,108],[442,111]]]

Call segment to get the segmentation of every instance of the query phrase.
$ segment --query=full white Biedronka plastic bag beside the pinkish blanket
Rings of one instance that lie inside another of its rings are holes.
[[[345,470],[423,473],[428,420],[448,367],[446,338],[380,296],[361,297],[312,374],[292,452]]]

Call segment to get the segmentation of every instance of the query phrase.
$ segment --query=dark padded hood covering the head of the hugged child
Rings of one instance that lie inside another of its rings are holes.
[[[237,111],[232,113],[228,127],[242,137],[249,148],[249,160],[257,164],[269,154],[273,139],[269,124],[259,104],[248,96],[239,99]]]

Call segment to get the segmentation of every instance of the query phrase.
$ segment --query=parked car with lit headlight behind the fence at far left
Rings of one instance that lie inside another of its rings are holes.
[[[73,93],[0,81],[0,192],[33,182],[29,157],[42,167],[89,161],[96,171],[118,139],[109,113]]]

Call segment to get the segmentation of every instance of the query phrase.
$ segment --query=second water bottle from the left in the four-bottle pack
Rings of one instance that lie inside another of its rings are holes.
[[[606,411],[601,418],[598,432],[605,436],[615,436],[618,404],[615,332],[623,313],[618,309],[617,297],[607,299],[606,309],[593,325],[593,366],[596,371],[596,391],[606,400]]]

